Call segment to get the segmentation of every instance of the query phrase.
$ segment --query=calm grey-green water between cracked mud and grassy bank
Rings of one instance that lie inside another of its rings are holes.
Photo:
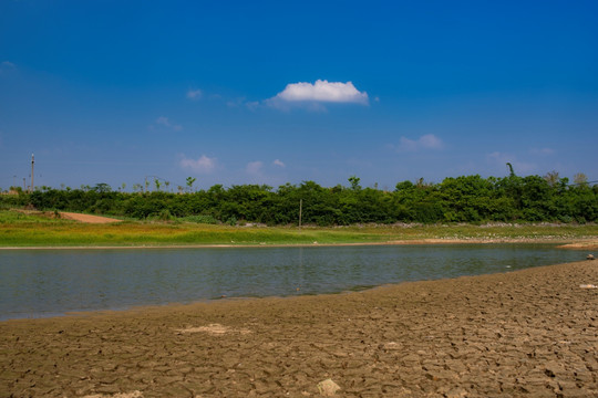
[[[0,320],[337,293],[582,258],[546,244],[0,250]]]

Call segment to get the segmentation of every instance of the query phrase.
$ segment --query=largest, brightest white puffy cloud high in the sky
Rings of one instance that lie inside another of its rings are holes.
[[[316,83],[290,83],[283,91],[267,101],[270,105],[282,103],[353,103],[368,105],[368,93],[360,92],[353,83],[318,80]]]

